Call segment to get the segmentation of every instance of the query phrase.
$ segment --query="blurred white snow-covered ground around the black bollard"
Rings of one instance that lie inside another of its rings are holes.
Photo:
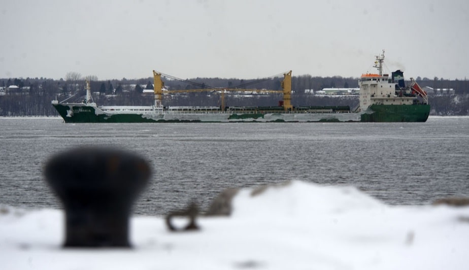
[[[133,217],[132,249],[63,249],[59,210],[0,211],[2,269],[467,269],[469,207],[388,206],[299,181],[252,196],[200,230]]]

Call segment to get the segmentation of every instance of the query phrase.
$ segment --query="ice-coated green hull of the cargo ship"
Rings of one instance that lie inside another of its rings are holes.
[[[425,122],[430,105],[372,105],[360,113],[324,110],[256,111],[256,112],[170,112],[103,111],[87,104],[53,104],[65,123],[154,123],[154,122]],[[131,107],[129,107],[131,108]],[[310,107],[311,108],[311,107]]]

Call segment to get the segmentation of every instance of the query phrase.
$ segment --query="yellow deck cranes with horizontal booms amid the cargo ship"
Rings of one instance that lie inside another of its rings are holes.
[[[155,107],[162,107],[164,82],[161,80],[162,73],[153,71],[154,80],[154,94],[155,94]],[[175,78],[169,75],[163,75],[166,77]],[[283,93],[283,108],[285,111],[291,111],[293,106],[291,105],[291,71],[283,74],[284,78],[281,83],[283,90],[268,90],[268,89],[238,89],[238,88],[201,88],[201,89],[186,89],[186,90],[168,90],[168,93],[189,93],[189,92],[208,92],[217,91],[221,92],[221,109],[225,110],[225,92],[228,91],[252,91],[252,92],[263,92],[263,93]],[[175,78],[177,79],[177,78]],[[191,83],[187,80],[177,79],[183,82]],[[198,85],[198,84],[195,84]],[[199,85],[202,86],[202,85]]]

